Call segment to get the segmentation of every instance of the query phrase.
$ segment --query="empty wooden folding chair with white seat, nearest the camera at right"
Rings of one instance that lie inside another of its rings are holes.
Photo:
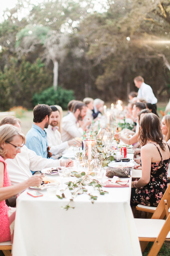
[[[135,219],[142,252],[147,244],[154,244],[148,256],[156,256],[165,240],[170,241],[170,185],[166,189],[151,219]],[[163,218],[166,215],[166,220]]]

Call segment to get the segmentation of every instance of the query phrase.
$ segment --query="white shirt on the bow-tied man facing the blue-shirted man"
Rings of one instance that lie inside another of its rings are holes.
[[[62,152],[65,149],[69,148],[69,144],[67,141],[62,142],[61,133],[57,129],[53,131],[51,125],[49,125],[48,128],[44,130],[47,132],[47,140],[48,145],[50,146],[52,157],[57,159],[62,155]]]

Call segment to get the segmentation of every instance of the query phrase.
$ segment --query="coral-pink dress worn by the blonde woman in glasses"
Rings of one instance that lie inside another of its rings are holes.
[[[7,173],[7,167],[4,159],[0,156],[0,162],[4,163],[4,183],[3,187],[11,186],[10,178]],[[9,207],[6,205],[5,200],[0,202],[0,242],[11,240],[10,223],[8,217]]]

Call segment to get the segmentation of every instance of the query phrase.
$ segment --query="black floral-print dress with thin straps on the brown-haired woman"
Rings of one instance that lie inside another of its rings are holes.
[[[169,148],[169,145],[168,145],[168,148]],[[160,150],[158,147],[157,147],[157,150],[160,153]],[[169,148],[169,151],[170,151],[170,148]],[[130,199],[131,206],[136,206],[140,204],[140,205],[156,207],[159,204],[170,182],[167,174],[170,158],[166,160],[162,160],[161,153],[160,153],[160,157],[161,157],[161,161],[156,163],[151,163],[151,178],[149,183],[143,188],[132,188],[131,199]],[[141,165],[141,162],[140,162],[140,165]]]

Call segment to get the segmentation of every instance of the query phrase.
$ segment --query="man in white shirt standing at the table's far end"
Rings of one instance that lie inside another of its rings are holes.
[[[144,79],[142,76],[136,76],[134,78],[135,86],[139,89],[137,93],[137,98],[143,98],[146,100],[146,102],[149,102],[154,105],[154,107],[157,109],[156,103],[157,98],[154,96],[154,93],[152,91],[152,88],[144,83]]]

